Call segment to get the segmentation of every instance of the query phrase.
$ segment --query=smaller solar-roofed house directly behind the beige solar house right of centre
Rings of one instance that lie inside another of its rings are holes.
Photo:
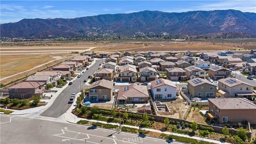
[[[185,71],[186,71],[186,76],[189,79],[193,79],[196,77],[200,77],[200,78],[206,77],[206,71],[195,66],[186,67]]]

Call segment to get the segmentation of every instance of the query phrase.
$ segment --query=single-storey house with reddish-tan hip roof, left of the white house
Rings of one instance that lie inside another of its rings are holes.
[[[119,87],[117,103],[147,103],[149,100],[146,85],[128,85]]]

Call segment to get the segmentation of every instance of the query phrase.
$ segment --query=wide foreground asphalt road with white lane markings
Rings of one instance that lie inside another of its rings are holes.
[[[0,115],[0,143],[179,143],[84,125]]]

